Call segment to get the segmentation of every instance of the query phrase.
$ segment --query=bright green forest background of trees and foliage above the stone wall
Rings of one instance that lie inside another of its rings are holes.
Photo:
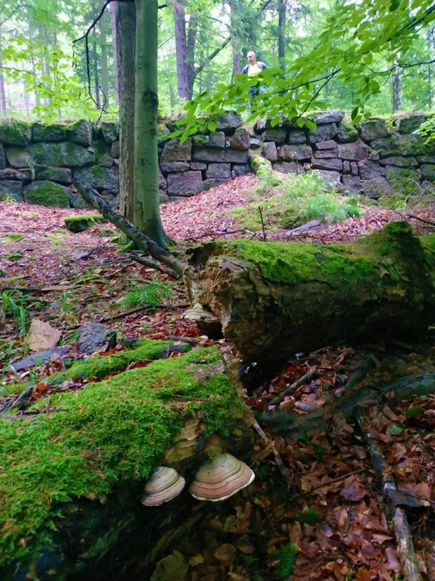
[[[117,116],[116,4],[110,2],[103,10],[105,3],[95,0],[1,2],[0,115],[43,120]],[[376,11],[376,2],[362,3],[366,8],[369,4]],[[394,19],[404,11],[412,17],[412,10],[412,2],[393,0],[384,10],[384,23],[390,21],[393,30]],[[367,114],[430,110],[435,89],[435,26],[427,17],[431,12],[429,7],[424,28],[416,26],[408,34],[406,52],[401,52],[400,45],[394,51],[394,43],[386,51],[368,47],[359,62],[362,68],[355,74],[351,63],[355,39],[349,30],[336,26],[337,18],[345,13],[332,0],[162,3],[158,10],[159,113],[173,114],[206,89],[231,83],[250,49],[270,69],[279,67],[285,78],[298,59],[312,56],[316,46],[324,48],[322,35],[328,27],[329,57],[346,54],[347,43],[352,74],[348,80],[336,76],[333,63],[323,55],[323,78],[316,82],[313,62],[315,82],[307,91],[316,95],[316,107],[355,112],[369,96]],[[96,25],[90,28],[94,21]],[[355,26],[348,21],[349,29]],[[361,21],[357,24],[361,31]],[[376,38],[374,28],[382,27],[382,21],[363,21],[362,27],[367,28],[368,39],[370,35]],[[78,41],[87,31],[87,37]],[[360,45],[361,41],[364,44],[359,35]]]

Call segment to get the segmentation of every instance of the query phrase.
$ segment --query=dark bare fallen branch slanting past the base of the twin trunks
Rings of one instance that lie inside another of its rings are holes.
[[[173,276],[179,278],[184,271],[184,264],[175,258],[173,254],[168,252],[168,250],[162,248],[157,243],[155,243],[151,238],[148,238],[145,234],[142,234],[133,224],[129,223],[126,218],[117,214],[111,207],[103,200],[103,198],[96,192],[95,189],[89,185],[82,184],[78,180],[73,180],[73,185],[77,188],[78,192],[81,194],[82,198],[86,200],[92,207],[100,212],[110,221],[115,224],[121,232],[135,243],[137,248],[143,250],[147,254],[151,254],[153,258],[165,264],[173,271]]]

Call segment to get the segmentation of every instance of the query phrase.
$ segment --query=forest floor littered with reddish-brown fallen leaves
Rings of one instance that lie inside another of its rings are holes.
[[[262,238],[262,232],[240,228],[228,214],[244,204],[245,191],[255,184],[255,176],[247,175],[162,206],[166,233],[183,241],[180,248],[208,239]],[[201,345],[215,342],[183,320],[188,306],[183,283],[156,274],[132,260],[128,252],[119,252],[113,225],[104,222],[80,234],[65,229],[64,217],[88,212],[0,202],[0,292],[2,297],[9,293],[16,306],[14,317],[6,317],[0,329],[0,407],[13,396],[14,381],[34,379],[41,385],[38,382],[62,365],[60,358],[53,357],[20,372],[9,367],[28,353],[20,305],[27,320],[49,321],[59,329],[61,344],[71,346],[68,357],[73,358],[82,356],[77,350],[77,329],[86,321],[116,327],[115,349],[122,349],[122,338],[144,336],[176,336]],[[371,205],[362,217],[311,228],[291,241],[350,242],[391,220],[407,220],[418,234],[430,234],[435,207],[398,213]],[[277,229],[267,239],[289,237],[287,231]],[[171,282],[171,299],[133,312],[122,307],[119,299],[132,285],[156,278]],[[217,342],[223,350],[232,349],[223,339]],[[343,397],[347,382],[367,362],[369,371],[358,383],[360,389],[434,372],[434,355],[430,343],[324,346],[314,353],[297,354],[267,381],[259,379],[256,385],[251,381],[247,403],[260,412],[279,407],[303,421],[305,415],[328,410],[331,401]],[[298,382],[302,376],[306,380]],[[291,393],[272,403],[293,383]],[[252,485],[226,503],[216,504],[211,518],[175,544],[172,562],[189,564],[180,579],[404,581],[393,519],[376,482],[365,433],[382,451],[385,476],[393,476],[403,495],[400,504],[409,519],[422,579],[435,579],[435,394],[398,402],[393,394],[394,389],[365,402],[362,429],[328,411],[324,415],[327,430],[286,435],[263,425],[275,450],[259,437],[252,454],[257,474]],[[41,393],[35,390],[37,397]],[[174,572],[168,575],[168,580],[178,579]],[[136,579],[144,578],[139,572]]]

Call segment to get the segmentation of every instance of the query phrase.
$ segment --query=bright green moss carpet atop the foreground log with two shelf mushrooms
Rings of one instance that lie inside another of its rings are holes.
[[[222,433],[235,389],[220,371],[198,372],[219,362],[216,347],[198,349],[57,394],[57,411],[0,419],[0,564],[48,537],[58,503],[146,479],[182,428],[178,401],[183,415],[201,414],[205,433]]]

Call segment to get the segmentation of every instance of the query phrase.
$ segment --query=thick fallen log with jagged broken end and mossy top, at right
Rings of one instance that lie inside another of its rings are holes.
[[[418,238],[407,223],[347,244],[238,239],[188,252],[190,303],[218,317],[247,362],[420,336],[435,320],[435,236]]]

